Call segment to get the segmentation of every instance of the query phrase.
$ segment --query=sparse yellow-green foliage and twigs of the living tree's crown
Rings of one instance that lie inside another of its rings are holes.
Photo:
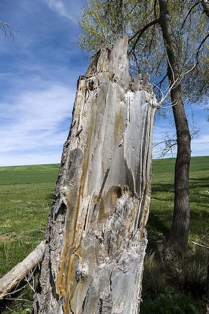
[[[95,52],[101,42],[112,47],[117,38],[128,34],[130,52],[130,72],[132,75],[146,72],[158,87],[167,87],[167,58],[159,23],[147,28],[137,39],[138,33],[150,22],[159,18],[158,1],[154,0],[92,0],[82,10],[79,21],[82,36],[79,37],[81,49]],[[182,85],[186,98],[200,102],[205,98],[206,85],[206,45],[200,44],[207,34],[206,15],[202,5],[195,0],[169,1],[171,25],[175,37],[180,72],[187,72],[196,60],[196,67],[187,73]],[[133,49],[133,47],[135,47]],[[133,49],[133,50],[132,50]],[[160,81],[163,82],[160,83]],[[161,97],[159,89],[155,93]]]

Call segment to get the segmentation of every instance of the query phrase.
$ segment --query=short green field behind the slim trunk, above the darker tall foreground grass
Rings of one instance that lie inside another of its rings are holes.
[[[170,230],[174,201],[175,159],[153,160],[152,194],[147,223],[149,239],[160,240]],[[189,240],[206,245],[209,231],[209,156],[193,157],[189,172]],[[154,243],[150,243],[154,244]]]

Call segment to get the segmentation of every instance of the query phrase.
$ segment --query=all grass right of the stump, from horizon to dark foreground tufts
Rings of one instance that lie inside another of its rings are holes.
[[[159,249],[172,223],[174,164],[175,159],[153,160],[152,164],[141,314],[205,313],[206,250],[191,241],[208,246],[209,157],[191,158],[189,251],[180,263],[169,265],[159,258]]]

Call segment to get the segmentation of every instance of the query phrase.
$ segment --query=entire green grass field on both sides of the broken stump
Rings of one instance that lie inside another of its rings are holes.
[[[152,198],[147,223],[149,239],[148,258],[145,261],[144,302],[141,308],[141,312],[146,314],[152,312],[162,314],[205,312],[202,296],[195,297],[190,291],[187,291],[185,301],[185,289],[180,289],[179,285],[175,288],[175,285],[166,281],[163,287],[160,283],[160,287],[153,288],[153,284],[149,287],[151,281],[155,280],[155,283],[157,283],[160,279],[160,282],[163,283],[160,276],[164,276],[164,274],[167,276],[166,271],[162,267],[159,268],[159,263],[153,254],[156,253],[157,243],[168,234],[172,222],[174,163],[174,159],[153,160]],[[58,171],[59,165],[0,168],[0,276],[3,276],[24,259],[44,239]],[[190,267],[189,269],[193,273],[195,271],[194,268],[198,268],[198,265],[196,266],[194,263],[197,262],[199,265],[201,263],[199,268],[203,269],[204,259],[206,259],[205,249],[197,248],[191,243],[191,240],[203,245],[208,243],[208,156],[191,159],[189,185],[191,219],[189,256],[187,257],[187,266],[185,268],[188,269]],[[196,261],[196,259],[199,259],[199,261]],[[150,267],[152,270],[155,269],[155,272],[151,272],[151,277],[149,277]],[[154,278],[153,275],[155,275]],[[198,275],[204,276],[200,272]],[[200,279],[197,278],[197,280]],[[172,280],[174,279],[172,278]],[[30,288],[27,288],[25,292],[21,291],[15,297],[29,299],[29,301],[3,302],[1,305],[4,307],[3,312],[29,312],[32,304],[30,302],[32,295],[33,292],[30,291]],[[180,307],[174,308],[174,302],[186,303],[185,308],[182,311],[180,311]],[[168,311],[162,310],[162,306],[167,306]]]

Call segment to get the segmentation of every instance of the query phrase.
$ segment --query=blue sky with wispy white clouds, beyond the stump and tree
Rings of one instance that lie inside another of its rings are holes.
[[[60,162],[77,79],[88,67],[77,45],[76,17],[85,3],[1,1],[0,20],[20,34],[12,41],[0,33],[0,166]],[[209,155],[206,112],[195,107],[193,113],[200,132],[192,141],[192,155]],[[187,114],[191,116],[189,108]],[[174,133],[172,122],[156,119],[153,141],[161,141],[165,132]],[[158,156],[155,150],[153,156]]]

